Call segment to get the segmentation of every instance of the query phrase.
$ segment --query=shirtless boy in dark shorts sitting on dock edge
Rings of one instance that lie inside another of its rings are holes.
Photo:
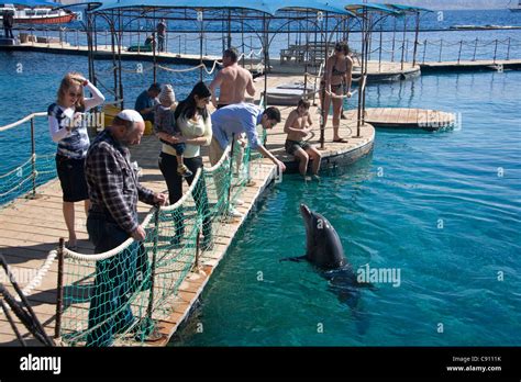
[[[284,132],[288,134],[286,137],[286,153],[293,155],[299,160],[299,171],[306,180],[310,180],[307,177],[308,164],[312,159],[311,171],[314,179],[320,179],[318,173],[320,170],[320,161],[322,156],[320,153],[311,146],[308,142],[303,141],[304,137],[312,131],[313,121],[309,113],[310,102],[301,99],[297,105],[297,109],[289,113],[284,126]]]

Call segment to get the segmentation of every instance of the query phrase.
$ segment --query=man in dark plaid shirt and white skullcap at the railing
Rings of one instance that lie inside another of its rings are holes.
[[[140,144],[144,130],[140,113],[123,110],[87,153],[85,175],[91,201],[87,232],[96,254],[113,249],[129,237],[136,241],[145,239],[145,231],[137,221],[137,200],[166,203],[165,194],[138,183],[130,161],[129,146]],[[149,277],[146,251],[137,243],[96,263],[87,346],[110,346],[115,333],[132,328],[134,316],[129,297],[138,288],[149,288]]]

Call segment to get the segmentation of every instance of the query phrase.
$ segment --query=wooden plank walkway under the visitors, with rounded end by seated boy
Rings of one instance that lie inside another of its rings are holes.
[[[274,79],[274,81],[277,80],[284,79]],[[286,116],[290,108],[282,109],[282,116]],[[314,111],[312,111],[312,113],[314,113]],[[313,115],[317,121],[315,126],[318,126],[318,115]],[[267,146],[282,160],[296,165],[292,158],[284,154],[284,122],[285,119],[282,119],[282,122],[277,125],[276,128],[269,132]],[[370,151],[375,137],[375,131],[373,126],[368,124],[362,128],[359,138],[352,138],[353,125],[351,123],[344,124],[341,127],[341,135],[348,138],[350,142],[347,144],[332,144],[328,142],[331,141],[331,134],[330,125],[326,130],[326,145],[323,151],[324,166],[340,164],[342,158],[347,158],[347,161],[356,160]],[[311,142],[315,143],[318,137],[315,135]],[[140,146],[132,148],[132,158],[133,160],[137,160],[140,167],[143,168],[141,182],[145,187],[154,191],[166,191],[163,176],[157,168],[159,150],[159,142],[153,136],[145,136]],[[207,157],[204,158],[208,159]],[[206,166],[209,166],[208,160]],[[170,301],[173,314],[162,319],[158,324],[158,329],[164,334],[164,338],[155,342],[148,342],[147,345],[165,346],[168,342],[179,324],[189,314],[190,307],[198,300],[213,270],[224,257],[237,229],[244,224],[248,213],[253,211],[252,207],[257,198],[271,182],[276,170],[271,161],[264,158],[257,159],[252,164],[252,176],[255,184],[246,187],[242,191],[240,198],[244,201],[244,204],[236,206],[239,211],[244,213],[244,217],[240,221],[221,225],[220,232],[215,237],[213,250],[204,251],[201,256],[201,265],[206,274],[189,273],[185,278],[180,284],[179,293]],[[37,192],[41,196],[38,199],[27,200],[20,198],[0,209],[0,254],[5,257],[10,267],[16,272],[21,270],[32,272],[41,268],[48,251],[57,247],[59,237],[67,237],[67,231],[62,215],[62,190],[59,182],[53,180],[40,187]],[[148,205],[138,204],[141,220],[143,220],[148,210]],[[91,254],[93,248],[90,241],[88,241],[85,227],[85,213],[79,203],[76,206],[76,214],[78,251]],[[20,282],[21,288],[24,288],[30,280],[23,281],[25,282]],[[54,336],[55,329],[56,292],[57,261],[54,261],[41,284],[36,285],[27,296],[27,300],[49,336]],[[15,319],[15,322],[18,329],[26,339],[27,345],[40,345],[18,319]],[[0,346],[19,345],[5,315],[0,312]],[[135,345],[141,345],[141,342],[136,342]]]

